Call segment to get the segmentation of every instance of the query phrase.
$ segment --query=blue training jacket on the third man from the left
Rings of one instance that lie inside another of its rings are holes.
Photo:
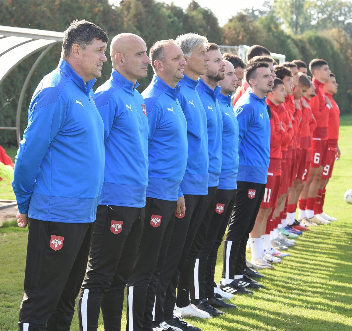
[[[187,121],[177,95],[180,86],[171,88],[154,75],[142,92],[149,121],[148,187],[146,196],[177,201],[183,193],[180,183],[186,170]]]

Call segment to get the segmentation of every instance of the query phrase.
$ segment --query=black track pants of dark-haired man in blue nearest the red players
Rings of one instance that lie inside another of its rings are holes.
[[[237,196],[224,242],[222,278],[242,275],[246,265],[246,243],[253,230],[265,184],[237,182]]]

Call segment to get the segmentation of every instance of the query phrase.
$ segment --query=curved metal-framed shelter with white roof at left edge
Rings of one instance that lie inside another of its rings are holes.
[[[26,29],[22,27],[0,25],[0,84],[4,81],[13,68],[32,54],[44,49],[32,65],[31,70],[23,83],[18,99],[16,126],[0,126],[2,130],[16,130],[17,144],[21,141],[20,116],[24,93],[31,76],[46,53],[57,43],[61,43],[63,32]]]

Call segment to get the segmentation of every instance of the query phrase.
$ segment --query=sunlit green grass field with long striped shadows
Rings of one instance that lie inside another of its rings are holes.
[[[265,270],[265,288],[252,296],[235,296],[237,310],[221,318],[190,319],[203,331],[352,331],[352,205],[343,194],[352,188],[352,115],[341,116],[341,159],[327,186],[324,211],[339,220],[304,233],[290,257]],[[11,154],[8,151],[9,155]],[[15,151],[14,151],[15,153]],[[10,155],[13,157],[12,155]],[[1,182],[0,197],[13,198],[10,181]],[[0,228],[0,330],[17,330],[23,296],[27,229]],[[216,266],[221,278],[222,247]],[[121,329],[125,329],[124,319]],[[100,317],[99,330],[103,330]],[[78,330],[75,314],[71,330]]]

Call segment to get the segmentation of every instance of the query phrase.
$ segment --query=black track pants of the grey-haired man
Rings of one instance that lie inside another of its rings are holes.
[[[176,279],[173,278],[178,263],[180,262],[181,256],[183,255],[183,248],[186,242],[186,237],[188,235],[189,229],[193,229],[195,234],[195,229],[197,228],[204,195],[184,195],[184,201],[186,206],[186,213],[182,218],[176,218],[174,229],[172,230],[171,240],[169,243],[169,248],[166,254],[166,260],[164,266],[162,267],[161,273],[158,277],[156,297],[155,297],[155,314],[153,314],[153,325],[158,325],[168,318],[164,318],[164,303],[166,295],[174,296],[176,298],[176,287],[178,281],[177,274]],[[192,237],[193,241],[194,235]],[[190,246],[190,244],[189,244]],[[186,259],[187,255],[184,257]],[[150,283],[150,286],[152,282]],[[175,305],[175,304],[174,304]],[[172,308],[172,312],[173,312]],[[171,317],[173,313],[171,312]],[[146,316],[147,318],[147,316]],[[145,325],[150,325],[152,320],[145,320]]]

